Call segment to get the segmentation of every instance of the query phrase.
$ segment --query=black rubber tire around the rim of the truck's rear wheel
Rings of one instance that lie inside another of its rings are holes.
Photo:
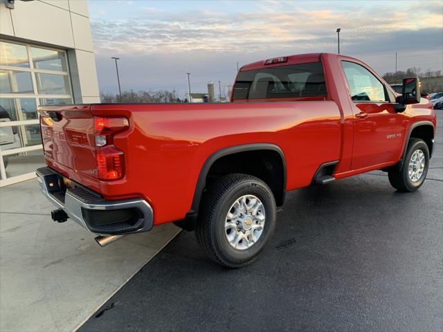
[[[237,250],[226,238],[224,223],[231,205],[244,195],[260,199],[266,219],[257,241],[247,249]],[[228,268],[239,268],[257,259],[275,230],[275,217],[275,199],[264,181],[246,174],[229,174],[215,181],[204,194],[195,234],[210,259]]]

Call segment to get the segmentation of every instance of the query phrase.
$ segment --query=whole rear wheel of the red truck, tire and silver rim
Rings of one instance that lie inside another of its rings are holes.
[[[275,229],[275,199],[264,181],[229,174],[208,188],[195,229],[213,261],[229,268],[251,264]]]

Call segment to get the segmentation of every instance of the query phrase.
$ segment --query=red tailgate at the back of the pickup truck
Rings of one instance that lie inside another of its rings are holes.
[[[41,107],[40,125],[48,166],[73,180],[84,181],[86,177],[87,183],[98,185],[90,108],[89,105]]]

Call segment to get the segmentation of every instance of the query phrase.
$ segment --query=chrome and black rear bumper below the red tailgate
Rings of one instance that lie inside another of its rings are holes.
[[[152,208],[143,199],[107,201],[80,185],[66,188],[63,176],[49,167],[37,169],[36,174],[46,198],[90,232],[118,235],[147,232],[152,228]]]

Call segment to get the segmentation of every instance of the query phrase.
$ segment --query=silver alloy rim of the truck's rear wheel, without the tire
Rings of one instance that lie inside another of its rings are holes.
[[[260,239],[266,219],[262,201],[245,195],[230,206],[224,230],[230,246],[238,250],[251,248]]]

